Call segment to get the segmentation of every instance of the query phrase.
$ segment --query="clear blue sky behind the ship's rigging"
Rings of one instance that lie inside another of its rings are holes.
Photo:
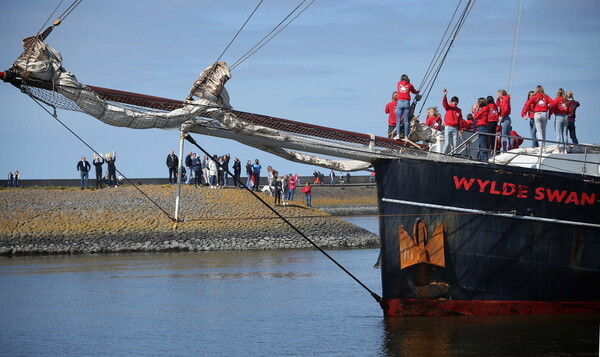
[[[229,64],[278,24],[300,1],[265,0],[224,55]],[[70,1],[67,1],[70,3]],[[183,99],[198,73],[214,62],[257,1],[85,0],[48,38],[63,66],[100,87]],[[458,1],[317,0],[263,49],[232,71],[226,87],[235,109],[385,136],[383,112],[407,73],[419,85]],[[441,92],[466,111],[480,96],[508,87],[518,1],[477,1],[426,107],[441,108]],[[0,68],[21,53],[58,1],[4,3]],[[63,5],[62,10],[65,6]],[[60,10],[59,12],[62,12]],[[600,1],[525,0],[512,89],[513,127],[537,84],[554,97],[572,90],[580,142],[600,143],[595,103],[600,79]],[[127,177],[166,177],[165,157],[178,132],[108,126],[82,113],[59,118],[99,152],[116,151]],[[424,121],[424,117],[421,118]],[[0,170],[23,179],[78,178],[75,165],[90,150],[29,97],[0,83]],[[554,138],[554,119],[548,137]],[[279,172],[309,175],[316,167],[287,162],[236,142],[196,135],[216,154],[258,158]],[[188,150],[197,151],[186,146]],[[328,170],[325,170],[328,172]]]

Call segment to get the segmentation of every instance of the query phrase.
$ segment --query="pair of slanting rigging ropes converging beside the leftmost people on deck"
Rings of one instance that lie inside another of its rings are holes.
[[[439,53],[438,53],[438,51],[436,51],[436,55],[434,55],[434,59],[432,60],[432,64],[436,64],[436,65],[430,65],[430,69],[428,69],[428,73],[426,74],[426,76],[423,80],[424,83],[422,84],[422,87],[423,87],[423,90],[425,90],[426,95],[425,95],[425,99],[423,100],[423,102],[421,104],[421,108],[419,109],[419,113],[417,114],[417,116],[419,116],[421,114],[421,111],[425,107],[425,103],[427,102],[427,99],[429,98],[429,95],[431,94],[431,90],[433,89],[433,84],[437,80],[437,77],[439,76],[440,71],[442,70],[442,67],[446,61],[446,58],[448,57],[448,54],[450,53],[450,50],[452,49],[452,46],[454,45],[454,40],[456,39],[456,36],[458,36],[458,33],[462,29],[467,17],[469,16],[469,13],[471,12],[471,10],[473,9],[473,6],[475,5],[475,2],[476,2],[476,0],[468,1],[468,3],[463,8],[463,11],[462,11],[459,19],[457,20],[456,24],[454,25],[454,28],[452,29],[450,35],[444,41],[444,37],[446,36],[446,34],[448,32],[446,29],[446,32],[444,33],[444,36],[442,37],[442,41],[440,42],[440,44],[442,42],[444,42],[443,48],[445,48],[445,51],[441,51]],[[461,3],[462,3],[462,0],[458,3],[457,8],[455,10],[455,14],[456,14],[456,11],[459,9]],[[455,15],[452,16],[452,19],[448,23],[448,27],[450,27],[450,25],[452,24],[454,17],[455,17]],[[416,107],[416,100],[413,101],[412,106]]]

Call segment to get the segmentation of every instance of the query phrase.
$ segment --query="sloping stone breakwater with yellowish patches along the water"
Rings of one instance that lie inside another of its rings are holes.
[[[140,189],[156,205],[132,186],[0,190],[0,255],[311,247],[245,190],[183,186],[180,218],[185,222],[174,229],[157,205],[172,215],[176,187]],[[273,203],[271,197],[259,195]],[[327,202],[321,196],[313,203],[319,200]],[[319,246],[379,245],[376,235],[307,208],[303,201],[297,197],[294,205],[274,208]]]

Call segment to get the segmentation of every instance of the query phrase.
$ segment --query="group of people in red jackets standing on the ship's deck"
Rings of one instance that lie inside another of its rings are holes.
[[[410,102],[411,93],[416,94],[415,100],[420,99],[419,91],[410,84],[410,79],[403,74],[392,93],[392,100],[385,106],[388,116],[388,137],[399,139],[410,134]],[[498,90],[496,98],[480,97],[471,107],[471,113],[463,118],[462,110],[458,107],[456,96],[447,98],[448,91],[444,89],[442,106],[445,110],[444,119],[437,107],[427,109],[425,125],[444,133],[442,153],[454,153],[457,149],[458,138],[463,130],[479,133],[477,139],[479,160],[487,160],[493,149],[508,151],[519,147],[522,139],[512,130],[511,97],[504,89]],[[567,143],[567,132],[571,141],[578,144],[575,134],[575,111],[579,107],[572,91],[560,88],[554,99],[544,93],[544,88],[538,85],[535,91],[530,91],[521,111],[521,116],[529,120],[533,147],[544,147],[546,142],[546,126],[551,115],[555,115],[556,141],[560,143],[559,151],[564,152]],[[395,135],[394,135],[395,134]],[[489,135],[492,134],[492,135]],[[494,140],[494,134],[501,134]]]

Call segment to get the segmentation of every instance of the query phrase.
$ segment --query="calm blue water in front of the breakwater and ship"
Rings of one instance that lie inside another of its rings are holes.
[[[378,250],[330,254],[380,293]],[[315,251],[0,258],[2,356],[594,356],[598,321],[384,319]]]

